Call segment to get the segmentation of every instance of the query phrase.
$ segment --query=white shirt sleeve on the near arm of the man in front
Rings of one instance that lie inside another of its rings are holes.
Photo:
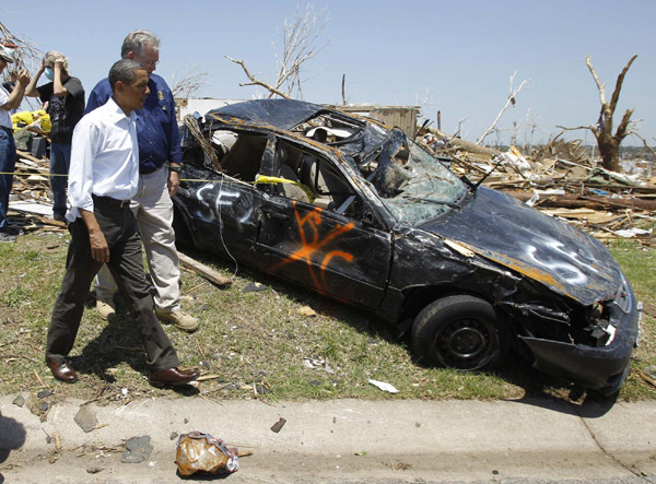
[[[80,216],[79,209],[93,212],[93,161],[98,146],[98,127],[83,119],[73,132],[71,164],[69,168],[68,197],[71,204],[71,222]]]

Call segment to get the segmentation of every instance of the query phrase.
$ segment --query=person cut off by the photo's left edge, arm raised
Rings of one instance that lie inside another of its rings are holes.
[[[10,63],[13,63],[12,57],[4,46],[0,45],[0,74]],[[4,243],[16,240],[16,236],[11,234],[7,226],[9,193],[13,185],[13,175],[11,174],[16,167],[16,144],[13,139],[10,111],[21,105],[28,83],[30,73],[26,69],[21,69],[11,93],[0,85],[0,241]]]

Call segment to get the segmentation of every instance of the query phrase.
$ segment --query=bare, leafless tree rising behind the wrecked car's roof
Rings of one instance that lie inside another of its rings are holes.
[[[269,91],[268,97],[291,98],[294,91],[297,96],[303,96],[302,67],[326,47],[328,42],[321,40],[326,26],[326,9],[315,13],[312,3],[306,5],[304,11],[301,11],[300,5],[300,3],[296,5],[294,16],[290,21],[286,19],[284,21],[282,51],[274,52],[278,63],[274,82],[267,82],[253,74],[244,60],[225,56],[231,62],[241,66],[248,78],[249,82],[239,83],[241,86],[259,85]]]

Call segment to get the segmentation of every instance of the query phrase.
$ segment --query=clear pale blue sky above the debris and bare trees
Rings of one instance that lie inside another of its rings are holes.
[[[513,87],[526,81],[525,87],[485,142],[507,142],[515,126],[518,144],[543,143],[557,126],[589,126],[599,117],[586,55],[607,98],[637,55],[614,122],[635,109],[636,132],[656,144],[652,0],[0,1],[0,21],[42,51],[63,52],[87,94],[118,60],[126,34],[139,28],[160,36],[156,73],[167,82],[202,72],[207,85],[195,97],[250,99],[265,91],[239,86],[247,79],[225,56],[273,82],[284,22],[307,5],[325,22],[317,42],[325,47],[303,64],[307,102],[341,104],[345,75],[349,103],[421,106],[433,127],[440,110],[442,131],[460,130],[476,142],[505,105],[514,74]],[[567,138],[594,141],[589,130]]]

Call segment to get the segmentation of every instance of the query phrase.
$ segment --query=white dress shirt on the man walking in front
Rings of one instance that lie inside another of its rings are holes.
[[[69,221],[80,210],[93,212],[92,194],[129,200],[139,184],[139,145],[134,111],[126,116],[110,97],[106,104],[84,116],[71,143],[68,197]]]

